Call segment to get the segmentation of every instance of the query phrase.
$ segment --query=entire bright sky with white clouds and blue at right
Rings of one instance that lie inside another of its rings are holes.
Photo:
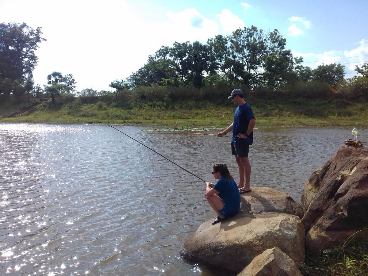
[[[0,22],[42,27],[35,84],[52,71],[72,74],[77,90],[111,90],[161,46],[206,43],[254,25],[278,29],[306,66],[343,64],[346,76],[368,62],[368,1],[0,0]]]

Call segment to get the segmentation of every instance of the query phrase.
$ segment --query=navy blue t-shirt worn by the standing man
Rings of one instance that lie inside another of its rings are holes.
[[[238,106],[234,113],[234,124],[233,124],[233,138],[231,141],[234,143],[245,143],[253,145],[253,131],[248,133],[249,136],[246,139],[238,138],[239,133],[247,134],[249,121],[254,118],[251,106],[248,103]]]

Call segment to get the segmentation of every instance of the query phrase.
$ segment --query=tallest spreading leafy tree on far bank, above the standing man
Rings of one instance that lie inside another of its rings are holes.
[[[284,50],[286,40],[276,29],[272,32],[258,30],[255,26],[237,29],[232,35],[209,39],[208,44],[211,51],[209,70],[220,71],[229,85],[251,88],[268,82],[274,86],[281,77],[293,75],[295,60],[290,50]],[[272,79],[276,77],[278,79]]]

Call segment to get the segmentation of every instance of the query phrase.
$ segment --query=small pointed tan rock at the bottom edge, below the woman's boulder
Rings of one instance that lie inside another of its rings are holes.
[[[237,276],[302,276],[297,264],[280,248],[263,251]]]

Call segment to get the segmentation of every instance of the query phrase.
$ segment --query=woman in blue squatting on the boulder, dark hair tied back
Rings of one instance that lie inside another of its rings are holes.
[[[215,164],[212,167],[212,175],[219,181],[216,184],[205,182],[205,197],[217,213],[217,217],[212,222],[212,224],[216,224],[235,216],[239,212],[240,194],[226,164]]]

